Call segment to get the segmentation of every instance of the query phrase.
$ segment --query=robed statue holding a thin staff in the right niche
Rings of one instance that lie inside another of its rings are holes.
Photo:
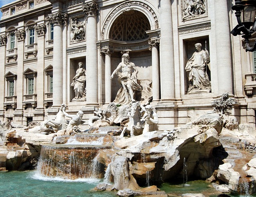
[[[195,47],[197,52],[194,52],[185,67],[186,72],[188,72],[188,93],[210,92],[211,83],[206,72],[207,64],[210,63],[210,56],[206,49],[201,49],[201,43],[195,44]]]

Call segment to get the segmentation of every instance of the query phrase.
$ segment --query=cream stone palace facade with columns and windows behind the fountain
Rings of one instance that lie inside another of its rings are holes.
[[[68,113],[84,112],[85,128],[95,107],[114,101],[120,85],[110,76],[128,53],[140,85],[150,87],[140,99],[152,98],[159,129],[211,111],[227,92],[234,98],[232,116],[255,127],[254,57],[242,38],[230,34],[237,24],[232,5],[234,0],[6,4],[0,20],[0,120],[26,125],[52,119],[64,103]],[[74,90],[79,65],[86,76],[80,95]]]

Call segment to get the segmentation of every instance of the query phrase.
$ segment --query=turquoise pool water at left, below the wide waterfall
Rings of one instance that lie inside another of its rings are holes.
[[[91,191],[98,183],[98,179],[48,179],[36,171],[0,172],[0,197],[116,197],[114,192]]]

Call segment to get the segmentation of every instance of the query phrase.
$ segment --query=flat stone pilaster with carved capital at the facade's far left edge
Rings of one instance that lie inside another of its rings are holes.
[[[5,57],[6,56],[6,42],[7,42],[7,36],[0,36],[0,57]],[[2,59],[2,61],[0,61],[0,70],[2,72],[0,72],[0,84],[2,84],[2,86],[0,87],[0,103],[2,103],[0,105],[0,121],[4,121],[4,96],[6,95],[6,93],[4,94],[4,75],[5,75],[5,63],[6,60],[4,60],[4,58]],[[5,86],[7,88],[7,86]],[[15,86],[16,87],[16,86]],[[7,90],[8,91],[8,90]]]

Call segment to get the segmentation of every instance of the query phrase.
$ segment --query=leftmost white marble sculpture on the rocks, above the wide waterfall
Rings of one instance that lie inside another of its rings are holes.
[[[65,115],[64,115],[64,111],[66,110],[66,105],[62,104],[60,107],[60,110],[58,111],[55,120],[45,120],[42,122],[41,126],[40,126],[40,130],[41,131],[46,131],[47,129],[50,131],[59,131],[61,129],[66,129],[67,127],[67,123],[65,121]],[[44,129],[44,128],[47,129]],[[52,127],[52,129],[51,129]]]

